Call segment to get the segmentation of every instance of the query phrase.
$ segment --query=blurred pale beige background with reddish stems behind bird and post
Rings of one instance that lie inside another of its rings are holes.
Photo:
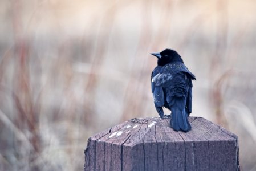
[[[0,170],[83,170],[87,139],[158,116],[150,52],[197,78],[192,116],[239,136],[256,170],[256,1],[0,1]],[[165,111],[169,114],[169,111]]]

